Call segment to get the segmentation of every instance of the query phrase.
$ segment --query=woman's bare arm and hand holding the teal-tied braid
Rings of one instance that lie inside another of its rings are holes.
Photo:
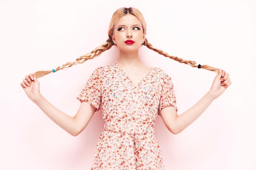
[[[73,136],[77,136],[83,131],[96,110],[94,106],[82,102],[74,117],[63,113],[40,94],[39,82],[33,74],[27,75],[20,85],[32,102],[34,102],[58,126]]]

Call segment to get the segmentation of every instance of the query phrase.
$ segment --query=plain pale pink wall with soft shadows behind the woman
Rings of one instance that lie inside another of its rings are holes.
[[[26,74],[74,61],[105,42],[119,7],[143,13],[153,46],[223,68],[232,79],[232,86],[180,134],[171,134],[157,117],[155,134],[166,170],[256,170],[254,0],[0,0],[0,170],[90,170],[101,113],[72,137],[26,97],[20,82]],[[146,65],[172,77],[178,114],[195,104],[215,77],[144,46],[140,53]],[[80,104],[76,96],[92,71],[117,56],[113,47],[42,77],[40,91],[73,116]]]

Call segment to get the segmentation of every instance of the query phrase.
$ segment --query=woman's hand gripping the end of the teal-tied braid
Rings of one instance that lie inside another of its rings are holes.
[[[25,79],[20,83],[20,86],[22,86],[27,97],[29,97],[33,102],[40,96],[39,82],[33,74],[26,75]]]

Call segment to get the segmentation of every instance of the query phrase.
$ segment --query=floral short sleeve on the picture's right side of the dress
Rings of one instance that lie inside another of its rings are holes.
[[[158,108],[159,115],[160,111],[166,106],[173,106],[176,111],[178,110],[176,106],[176,97],[171,77],[168,74],[164,74],[164,77],[162,79],[162,91]]]

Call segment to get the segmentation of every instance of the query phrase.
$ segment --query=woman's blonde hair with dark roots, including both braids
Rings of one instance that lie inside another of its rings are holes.
[[[37,78],[43,77],[44,75],[47,75],[49,73],[62,70],[63,68],[69,68],[73,65],[83,63],[86,60],[93,59],[94,57],[99,56],[102,52],[110,49],[113,45],[115,45],[112,41],[112,35],[114,33],[115,25],[116,25],[118,19],[121,18],[122,16],[126,15],[126,14],[135,15],[141,21],[144,33],[146,32],[147,24],[144,20],[143,15],[141,14],[141,12],[138,9],[132,8],[132,7],[130,7],[130,8],[125,8],[124,7],[124,8],[117,9],[117,11],[115,11],[115,13],[113,14],[112,19],[110,20],[110,25],[109,25],[109,28],[108,28],[108,40],[105,43],[101,44],[101,46],[97,46],[93,51],[91,51],[90,53],[87,53],[85,55],[82,55],[81,57],[77,58],[73,62],[67,62],[66,64],[63,64],[62,66],[58,66],[56,69],[52,69],[52,70],[36,71],[34,73],[34,75]],[[153,50],[153,51],[155,51],[155,52],[157,52],[161,55],[164,55],[165,57],[171,58],[171,59],[173,59],[177,62],[188,64],[188,65],[190,65],[192,67],[196,67],[196,68],[203,68],[203,69],[206,69],[206,70],[218,72],[218,69],[214,68],[212,66],[208,66],[208,65],[202,65],[201,66],[200,64],[198,65],[195,61],[183,60],[183,59],[178,58],[176,56],[169,55],[168,53],[165,53],[162,50],[156,49],[155,47],[153,47],[148,42],[147,39],[145,39],[145,41],[142,45],[148,47],[149,49],[151,49],[151,50]]]

